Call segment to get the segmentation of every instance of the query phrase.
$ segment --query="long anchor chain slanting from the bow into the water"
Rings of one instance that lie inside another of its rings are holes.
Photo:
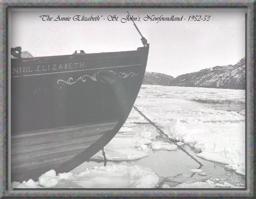
[[[181,149],[184,153],[186,153],[188,156],[190,156],[190,158],[192,158],[195,162],[197,162],[200,166],[197,169],[200,169],[203,164],[201,162],[199,162],[198,160],[196,160],[196,158],[194,158],[194,156],[190,155],[184,148],[182,148],[180,145],[177,144],[177,142],[175,140],[173,140],[172,138],[170,138],[167,134],[165,134],[160,128],[159,126],[157,126],[154,122],[152,122],[149,118],[147,118],[140,110],[138,110],[138,108],[136,106],[133,106],[134,110],[138,111],[138,113],[143,116],[150,124],[152,124],[156,130],[158,130],[161,134],[163,134],[166,139],[170,140],[171,142],[173,142],[173,144],[175,144],[179,149]],[[192,177],[193,175],[195,175],[195,173],[192,173],[192,175],[190,175],[190,177]]]

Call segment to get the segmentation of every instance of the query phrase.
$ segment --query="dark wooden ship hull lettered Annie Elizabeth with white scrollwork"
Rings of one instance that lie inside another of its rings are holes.
[[[11,61],[11,181],[68,172],[126,121],[149,47]]]

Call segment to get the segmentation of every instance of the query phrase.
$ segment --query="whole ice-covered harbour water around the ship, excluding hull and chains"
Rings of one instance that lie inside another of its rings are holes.
[[[245,188],[245,91],[142,85],[136,110],[102,151],[68,173],[50,170],[12,188]],[[190,175],[194,173],[192,177]]]

